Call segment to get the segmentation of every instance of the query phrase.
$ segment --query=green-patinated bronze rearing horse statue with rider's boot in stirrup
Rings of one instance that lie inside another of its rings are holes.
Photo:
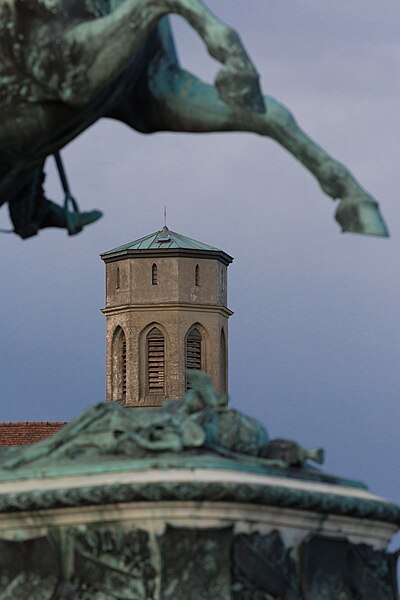
[[[186,19],[221,63],[214,86],[180,67],[168,14]],[[261,95],[240,38],[201,0],[0,0],[0,115],[0,204],[9,203],[23,238],[44,227],[74,234],[101,216],[47,200],[43,166],[102,117],[142,133],[271,137],[340,199],[343,231],[388,235],[376,201],[346,167]]]

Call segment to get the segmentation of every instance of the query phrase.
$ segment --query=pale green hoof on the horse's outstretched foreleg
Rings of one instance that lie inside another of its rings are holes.
[[[389,237],[389,231],[373,200],[344,199],[336,209],[335,219],[343,232]]]

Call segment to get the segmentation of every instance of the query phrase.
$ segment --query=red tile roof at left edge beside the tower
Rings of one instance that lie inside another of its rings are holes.
[[[65,424],[65,421],[0,421],[0,446],[26,446],[40,442]]]

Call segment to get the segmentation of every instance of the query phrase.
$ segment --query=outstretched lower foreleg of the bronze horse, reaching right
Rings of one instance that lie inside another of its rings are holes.
[[[309,138],[282,104],[264,97],[266,112],[234,109],[215,87],[177,68],[159,65],[149,74],[154,130],[186,132],[247,131],[271,137],[299,160],[323,191],[341,201],[335,218],[343,231],[388,236],[378,204],[349,170]]]

